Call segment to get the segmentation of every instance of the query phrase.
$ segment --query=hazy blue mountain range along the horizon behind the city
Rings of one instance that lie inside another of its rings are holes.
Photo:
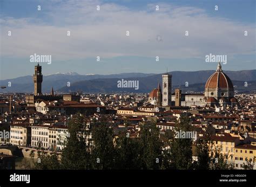
[[[214,70],[202,71],[171,71],[172,88],[180,88],[183,91],[204,91],[204,85]],[[224,71],[239,92],[251,92],[256,90],[256,70]],[[118,88],[117,81],[121,80],[139,81],[139,89]],[[11,87],[8,83],[11,82]],[[70,82],[70,87],[67,83]],[[75,72],[57,73],[43,76],[42,90],[49,93],[51,88],[57,92],[83,91],[84,93],[107,93],[107,92],[150,92],[161,83],[161,74],[144,73],[122,73],[112,75],[79,75]],[[185,87],[185,83],[188,87]],[[245,82],[248,86],[245,87]],[[22,76],[8,80],[0,80],[0,85],[5,86],[2,92],[33,92],[32,76]]]

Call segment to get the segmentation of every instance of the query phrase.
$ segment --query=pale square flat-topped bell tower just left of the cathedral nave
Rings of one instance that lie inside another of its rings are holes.
[[[171,106],[172,103],[172,75],[162,75],[163,78],[163,102],[162,106]]]

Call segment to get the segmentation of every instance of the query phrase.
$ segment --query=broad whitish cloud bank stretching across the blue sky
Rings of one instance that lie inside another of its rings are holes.
[[[210,17],[203,9],[154,4],[136,11],[99,1],[66,1],[44,6],[47,20],[0,19],[2,56],[51,54],[53,60],[87,57],[204,57],[255,53],[255,26]],[[96,6],[100,5],[100,11]],[[7,32],[11,30],[12,36]],[[130,36],[126,36],[126,31]],[[244,31],[248,36],[244,36]],[[71,36],[66,32],[71,31]],[[189,32],[185,37],[185,31]],[[161,42],[156,38],[160,36]]]

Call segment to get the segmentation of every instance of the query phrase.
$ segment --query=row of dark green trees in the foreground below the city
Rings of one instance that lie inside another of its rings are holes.
[[[198,159],[192,160],[192,140],[174,138],[171,131],[161,134],[156,124],[140,125],[137,138],[127,133],[114,135],[109,123],[92,123],[77,114],[68,125],[69,137],[58,159],[56,152],[38,149],[35,169],[232,169],[220,148],[209,147],[207,135],[194,146]],[[176,131],[192,131],[186,117],[177,121]],[[35,154],[31,154],[33,157]],[[34,160],[34,159],[33,159]]]

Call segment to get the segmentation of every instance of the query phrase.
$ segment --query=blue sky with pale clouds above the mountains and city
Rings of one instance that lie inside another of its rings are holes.
[[[51,55],[43,75],[213,70],[210,54],[256,69],[255,2],[0,0],[0,80],[32,75],[34,54]]]

